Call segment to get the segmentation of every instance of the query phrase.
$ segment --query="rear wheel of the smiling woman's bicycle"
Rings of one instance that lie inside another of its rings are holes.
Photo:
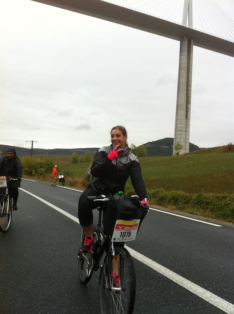
[[[96,242],[96,233],[93,233],[94,243]],[[85,240],[85,233],[82,230],[81,234],[81,246],[83,245]],[[92,278],[93,270],[94,270],[94,261],[93,261],[93,250],[91,250],[90,255],[86,255],[86,260],[84,257],[80,256],[78,258],[79,263],[79,277],[82,284],[87,284]]]

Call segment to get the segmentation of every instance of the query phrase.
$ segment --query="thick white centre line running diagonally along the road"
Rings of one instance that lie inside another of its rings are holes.
[[[40,198],[40,197],[34,195],[33,193],[30,193],[30,192],[22,189],[21,187],[19,189],[25,193],[28,193],[29,195],[33,196],[34,198],[37,198],[39,201],[45,203],[46,205],[54,208],[55,210],[59,211],[61,214],[64,214],[68,218],[74,220],[78,224],[80,223],[78,218],[65,212],[63,209],[45,201],[43,198]],[[176,215],[176,216],[179,216],[179,215]],[[179,216],[179,217],[181,217],[181,216]],[[200,220],[198,220],[198,221],[200,221]],[[185,289],[191,291],[195,295],[198,295],[203,300],[211,303],[212,305],[216,306],[217,308],[221,309],[222,311],[226,312],[227,314],[234,314],[234,305],[233,304],[227,302],[224,299],[221,299],[217,295],[211,293],[208,290],[203,289],[202,287],[198,286],[197,284],[194,284],[190,280],[187,280],[184,277],[178,275],[177,273],[174,273],[170,269],[154,262],[150,258],[138,253],[137,251],[134,251],[130,247],[128,247],[128,246],[126,246],[126,247],[127,247],[127,250],[129,251],[129,253],[132,255],[132,257],[136,258],[138,261],[140,261],[140,262],[144,263],[145,265],[149,266],[150,268],[156,270],[160,274],[164,275],[165,277],[174,281],[176,284],[179,284],[180,286],[184,287]]]

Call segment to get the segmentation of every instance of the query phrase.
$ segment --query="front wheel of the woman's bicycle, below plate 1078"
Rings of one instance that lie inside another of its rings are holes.
[[[116,246],[115,254],[120,257],[118,272],[120,275],[121,290],[118,292],[114,291],[113,288],[112,290],[108,290],[108,265],[106,257],[101,270],[100,279],[101,314],[131,314],[133,313],[136,297],[136,276],[133,260],[124,247]]]

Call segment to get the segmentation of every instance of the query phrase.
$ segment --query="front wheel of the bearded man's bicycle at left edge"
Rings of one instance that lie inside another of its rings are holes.
[[[9,199],[9,210],[7,213],[8,198],[3,196],[0,198],[0,230],[7,232],[12,221],[12,200]]]

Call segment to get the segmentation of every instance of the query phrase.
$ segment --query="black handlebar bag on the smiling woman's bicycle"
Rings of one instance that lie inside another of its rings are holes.
[[[112,236],[116,220],[133,221],[140,219],[139,231],[147,212],[148,210],[140,208],[139,197],[137,195],[110,195],[102,219],[103,229],[109,236]]]

